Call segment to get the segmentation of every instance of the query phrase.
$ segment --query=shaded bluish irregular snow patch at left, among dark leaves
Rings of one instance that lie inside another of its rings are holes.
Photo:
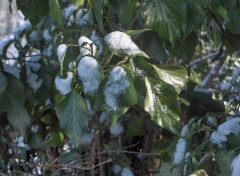
[[[36,62],[25,62],[25,67],[27,83],[29,84],[29,87],[36,92],[43,83],[43,80],[35,73],[40,69],[41,65]]]

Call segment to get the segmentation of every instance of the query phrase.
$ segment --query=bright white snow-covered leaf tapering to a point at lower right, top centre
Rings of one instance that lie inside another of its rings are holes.
[[[127,55],[130,57],[143,56],[149,58],[142,50],[138,48],[130,36],[123,32],[111,32],[104,37],[104,40],[116,55]]]

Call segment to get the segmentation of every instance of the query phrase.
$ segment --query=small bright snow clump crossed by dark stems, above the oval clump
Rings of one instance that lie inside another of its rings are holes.
[[[80,55],[86,56],[86,55],[95,55],[97,51],[96,45],[93,43],[92,40],[85,36],[81,36],[78,39],[78,45],[80,46]]]

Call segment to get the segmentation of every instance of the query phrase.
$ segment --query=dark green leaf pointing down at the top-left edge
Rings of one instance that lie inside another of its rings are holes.
[[[48,14],[48,2],[48,0],[17,0],[17,6],[32,25],[36,25]]]

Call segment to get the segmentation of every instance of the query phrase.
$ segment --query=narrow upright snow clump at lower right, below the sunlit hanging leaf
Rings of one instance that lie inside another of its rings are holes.
[[[174,165],[179,165],[182,163],[182,161],[184,160],[184,157],[185,157],[186,148],[187,148],[186,140],[184,138],[180,138],[178,140],[175,153],[173,155],[173,164]]]

